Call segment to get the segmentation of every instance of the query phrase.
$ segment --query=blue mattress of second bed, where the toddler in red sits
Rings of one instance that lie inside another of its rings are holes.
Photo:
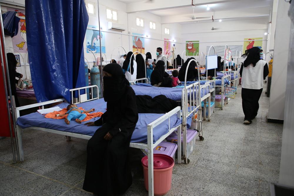
[[[151,97],[155,97],[158,95],[165,95],[167,98],[170,98],[175,101],[182,100],[182,90],[183,88],[167,88],[167,87],[155,87],[150,84],[145,83],[136,83],[136,85],[131,86],[135,91],[136,95],[149,95]],[[196,97],[195,92],[195,97]],[[210,93],[210,89],[201,89],[201,97]],[[190,93],[188,93],[188,96]]]

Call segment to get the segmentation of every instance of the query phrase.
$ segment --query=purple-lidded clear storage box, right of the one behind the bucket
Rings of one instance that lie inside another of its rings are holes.
[[[194,145],[195,145],[195,136],[197,135],[196,130],[187,129],[187,157],[193,152]],[[181,136],[182,145],[181,145],[181,151],[183,153],[183,135]],[[176,133],[172,133],[171,135],[166,138],[166,141],[171,143],[177,143],[178,142],[178,135]]]

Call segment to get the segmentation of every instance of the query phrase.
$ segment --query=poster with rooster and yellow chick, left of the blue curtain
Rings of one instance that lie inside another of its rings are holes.
[[[26,53],[28,50],[26,45],[26,13],[24,9],[7,8],[7,11],[16,11],[16,16],[20,18],[18,33],[11,38],[14,52]]]

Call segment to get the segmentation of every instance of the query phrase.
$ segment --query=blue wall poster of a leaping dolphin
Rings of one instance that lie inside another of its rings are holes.
[[[101,32],[101,51],[103,53],[106,53],[105,48],[105,34]],[[93,53],[99,53],[100,52],[100,34],[99,34],[99,28],[97,26],[87,26],[86,30],[86,47],[90,49]],[[91,51],[86,50],[87,53],[91,53]]]

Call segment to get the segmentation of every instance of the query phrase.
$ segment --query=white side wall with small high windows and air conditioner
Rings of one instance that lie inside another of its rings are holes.
[[[88,0],[93,3],[97,3],[95,0]],[[161,25],[161,17],[156,16],[154,14],[148,12],[127,14],[126,13],[126,4],[121,3],[120,1],[112,0],[100,0],[100,21],[102,32],[105,33],[106,38],[106,58],[109,62],[111,59],[118,60],[119,55],[123,55],[125,52],[122,48],[116,47],[118,45],[123,46],[126,50],[132,51],[132,33],[139,33],[142,36],[148,35],[149,38],[145,37],[145,53],[151,52],[152,58],[156,57],[156,48],[163,48],[163,39],[168,38],[171,40],[176,40],[175,44],[176,53],[178,50],[181,50],[181,25],[179,24],[165,24]],[[106,19],[106,8],[116,9],[118,11],[118,22],[113,22],[113,26],[117,26],[126,31],[118,32],[107,29],[108,20]],[[98,13],[98,8],[96,6],[96,13]],[[144,19],[144,27],[136,26],[136,17],[140,17]],[[156,23],[156,30],[149,28],[149,22],[153,21]],[[98,15],[89,16],[89,25],[98,26]],[[170,29],[170,35],[164,34],[164,28]],[[130,33],[130,34],[129,34]],[[86,41],[84,42],[84,46],[86,46]],[[112,55],[111,55],[112,54]],[[99,53],[96,54],[96,57],[100,56]],[[102,55],[105,58],[104,55]],[[90,64],[90,68],[93,65],[93,54],[85,52],[85,58],[87,58]],[[107,62],[107,63],[108,63]]]

